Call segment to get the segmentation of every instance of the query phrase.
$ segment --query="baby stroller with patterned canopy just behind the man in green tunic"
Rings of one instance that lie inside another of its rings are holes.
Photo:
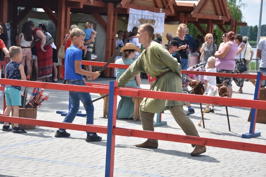
[[[194,66],[191,66],[190,68],[188,68],[187,70],[189,71],[198,71],[199,69],[201,68],[204,68],[205,65],[207,63],[201,63],[201,64],[197,64],[197,65],[194,65]],[[183,81],[182,81],[182,90],[183,90],[183,93],[190,93],[190,94],[193,94],[193,90],[189,90],[188,89],[188,83],[192,80],[197,80],[196,79],[196,75],[193,75],[193,74],[187,74],[185,76],[185,78],[183,78]]]

